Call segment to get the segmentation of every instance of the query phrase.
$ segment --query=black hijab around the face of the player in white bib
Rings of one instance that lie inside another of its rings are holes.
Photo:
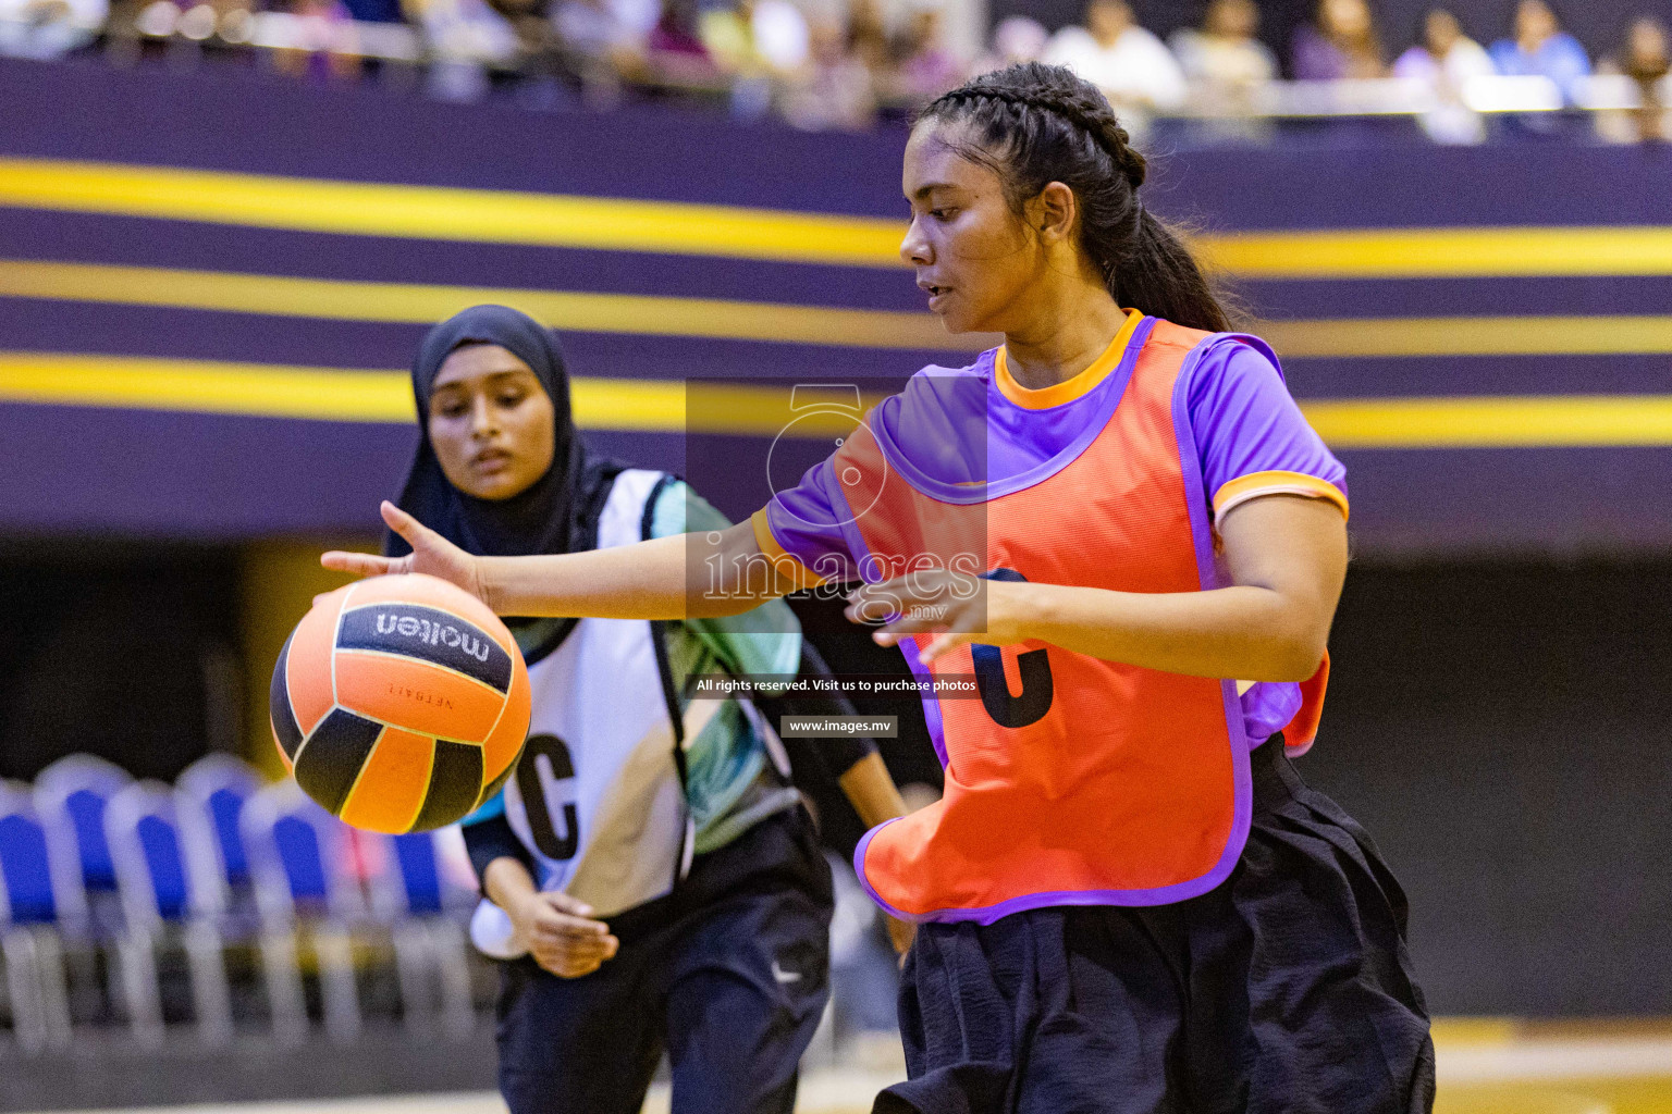
[[[557,446],[552,466],[527,491],[510,499],[477,499],[441,471],[430,444],[430,394],[441,364],[466,344],[498,344],[528,364],[552,397]],[[568,403],[568,371],[557,336],[537,321],[505,306],[473,306],[430,329],[413,362],[413,399],[418,403],[418,453],[395,501],[403,511],[453,544],[483,556],[572,553],[597,546],[599,511],[610,483],[625,464],[587,453]],[[385,533],[383,551],[410,553],[395,533]]]

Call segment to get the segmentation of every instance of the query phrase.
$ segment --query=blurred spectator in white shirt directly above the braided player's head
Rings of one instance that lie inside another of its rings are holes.
[[[1184,70],[1167,45],[1137,25],[1125,0],[1092,0],[1085,27],[1065,27],[1045,47],[1045,62],[1065,65],[1104,90],[1129,132],[1147,130],[1155,110],[1185,100]]]

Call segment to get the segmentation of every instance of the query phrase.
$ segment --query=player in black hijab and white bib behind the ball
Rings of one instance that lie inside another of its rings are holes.
[[[470,553],[729,526],[674,476],[587,453],[555,337],[517,311],[478,306],[431,329],[413,392],[400,504]],[[386,551],[406,543],[390,534]],[[507,960],[512,1114],[637,1114],[664,1051],[675,1112],[788,1114],[828,997],[829,870],[766,718],[684,693],[694,675],[823,670],[794,615],[771,601],[682,623],[508,623],[533,718],[465,843],[492,899],[472,937]],[[869,740],[821,752],[798,758],[841,772],[866,822],[901,813]]]

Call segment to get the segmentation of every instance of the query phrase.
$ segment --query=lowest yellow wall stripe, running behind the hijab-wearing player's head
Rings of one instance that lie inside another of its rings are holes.
[[[772,436],[788,387],[670,379],[573,381],[589,429]],[[0,403],[304,418],[413,421],[401,371],[0,352]],[[1672,394],[1313,399],[1301,409],[1338,449],[1672,446]],[[846,433],[844,421],[794,436]]]

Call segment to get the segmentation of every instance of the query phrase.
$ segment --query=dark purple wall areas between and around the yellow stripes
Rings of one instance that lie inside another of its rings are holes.
[[[448,105],[371,85],[244,72],[0,62],[0,157],[517,189],[898,217],[903,132],[809,135],[674,110]],[[1296,137],[1180,149],[1152,204],[1207,230],[1672,222],[1672,152],[1522,142],[1436,149]],[[890,269],[247,229],[0,205],[0,261],[341,281],[662,294],[920,309]],[[1659,314],[1672,277],[1257,281],[1264,317]],[[0,297],[0,352],[401,367],[420,324]],[[567,332],[582,376],[821,377],[903,372],[945,352]],[[1667,391],[1665,356],[1314,357],[1296,396]],[[0,406],[0,529],[247,538],[370,529],[411,431],[85,406]],[[681,468],[669,434],[600,448]],[[1363,553],[1650,548],[1672,543],[1672,449],[1343,451]],[[709,494],[732,514],[752,498]]]

